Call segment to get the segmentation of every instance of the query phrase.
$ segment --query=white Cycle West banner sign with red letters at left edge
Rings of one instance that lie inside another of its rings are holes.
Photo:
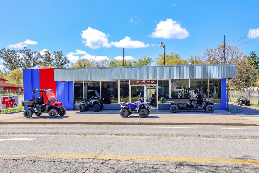
[[[0,96],[0,109],[19,107],[19,95]]]

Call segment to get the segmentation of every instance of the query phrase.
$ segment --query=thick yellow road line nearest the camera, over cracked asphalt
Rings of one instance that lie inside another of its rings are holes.
[[[0,155],[6,157],[38,157],[38,158],[76,158],[76,159],[120,159],[120,160],[148,160],[148,161],[173,161],[173,162],[207,162],[207,163],[233,163],[233,164],[256,164],[258,160],[244,159],[213,159],[213,158],[194,158],[194,157],[153,157],[153,156],[120,156],[120,155],[85,155],[85,154],[51,154],[44,155]]]

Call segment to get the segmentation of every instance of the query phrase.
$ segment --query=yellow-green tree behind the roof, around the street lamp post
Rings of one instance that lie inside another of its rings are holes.
[[[164,65],[163,53],[157,56],[156,63],[157,65]],[[165,55],[165,64],[166,65],[187,65],[188,62],[186,59],[181,59],[179,54],[175,52],[171,52],[170,54]]]

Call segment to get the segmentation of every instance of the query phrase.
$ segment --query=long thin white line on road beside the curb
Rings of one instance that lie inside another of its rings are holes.
[[[0,127],[94,127],[94,128],[166,128],[166,129],[249,129],[249,130],[259,130],[252,128],[223,128],[223,127],[116,127],[116,126],[0,126]]]

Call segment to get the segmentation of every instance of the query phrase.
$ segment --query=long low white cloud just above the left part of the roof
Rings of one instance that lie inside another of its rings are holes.
[[[77,55],[83,55],[83,56],[77,56]],[[94,59],[95,61],[100,61],[103,59],[109,59],[107,56],[95,56],[95,55],[90,55],[86,53],[85,51],[82,50],[76,50],[75,52],[70,52],[67,54],[67,57],[70,62],[76,62],[78,59]]]

